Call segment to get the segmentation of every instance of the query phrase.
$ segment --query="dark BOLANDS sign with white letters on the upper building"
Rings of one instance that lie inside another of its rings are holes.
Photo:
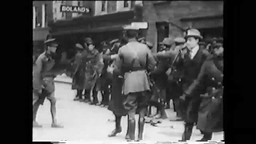
[[[61,6],[61,12],[90,13],[90,8],[82,6]]]

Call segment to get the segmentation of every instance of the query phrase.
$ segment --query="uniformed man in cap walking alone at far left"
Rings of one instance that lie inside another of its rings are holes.
[[[58,44],[54,38],[51,38],[46,40],[45,46],[46,51],[39,55],[33,70],[33,127],[42,127],[36,122],[36,116],[38,108],[43,104],[45,98],[50,100],[51,127],[63,127],[57,124],[56,98],[54,96],[54,77],[56,77],[56,73],[53,71],[53,67]]]

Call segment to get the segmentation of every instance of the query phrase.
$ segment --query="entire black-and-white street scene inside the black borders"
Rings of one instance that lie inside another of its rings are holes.
[[[223,1],[33,1],[33,142],[220,142]]]

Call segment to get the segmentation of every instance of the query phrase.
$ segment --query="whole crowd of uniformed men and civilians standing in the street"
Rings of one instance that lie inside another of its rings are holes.
[[[167,118],[165,109],[170,107],[170,99],[177,113],[175,120],[184,121],[180,141],[190,140],[195,124],[203,134],[198,140],[201,142],[210,140],[213,132],[222,131],[223,39],[214,38],[204,43],[198,30],[189,29],[185,38],[165,38],[158,44],[159,52],[153,54],[153,45],[146,42],[146,38],[138,38],[137,27],[124,29],[124,39],[102,42],[101,53],[91,38],[85,38],[83,45],[75,45],[78,53],[73,62],[72,89],[77,90],[74,101],[108,106],[113,111],[115,129],[109,137],[122,131],[122,116],[128,115],[128,141],[135,141],[134,115],[139,114],[136,139],[139,141],[145,117]],[[51,72],[58,45],[54,39],[48,39],[45,44],[46,51],[38,57],[33,72],[33,126],[41,127],[36,122],[36,114],[39,105],[48,98],[52,126],[62,127],[56,123],[53,84],[56,74]],[[98,92],[102,94],[101,103]],[[157,107],[157,114],[150,114],[150,106]],[[151,121],[153,125],[157,123]]]

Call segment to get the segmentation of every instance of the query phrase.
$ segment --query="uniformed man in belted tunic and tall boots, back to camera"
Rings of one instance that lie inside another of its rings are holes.
[[[128,110],[129,117],[129,135],[130,140],[135,140],[135,114],[139,114],[138,122],[138,140],[142,140],[144,130],[145,114],[150,90],[150,82],[147,76],[147,70],[154,70],[156,64],[149,48],[136,40],[138,28],[126,26],[126,37],[128,43],[119,49],[119,58],[116,61],[116,68],[113,74],[119,73],[121,68],[124,84],[123,94],[126,95],[124,102],[125,109]]]

